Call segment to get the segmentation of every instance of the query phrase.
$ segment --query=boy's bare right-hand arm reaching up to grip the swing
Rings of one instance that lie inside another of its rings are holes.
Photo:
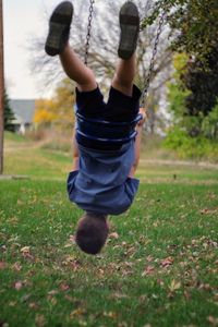
[[[138,162],[140,162],[141,143],[142,143],[142,136],[143,136],[143,125],[144,125],[144,122],[147,118],[146,111],[145,111],[144,108],[140,109],[140,113],[143,114],[143,119],[136,125],[137,135],[135,137],[135,144],[134,144],[135,161],[134,161],[134,164],[131,168],[131,171],[130,171],[130,174],[129,174],[130,178],[134,177],[134,174],[136,172],[136,169],[137,169],[137,166],[138,166]]]

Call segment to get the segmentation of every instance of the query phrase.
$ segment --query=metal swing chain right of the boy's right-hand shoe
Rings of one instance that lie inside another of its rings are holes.
[[[153,55],[152,55],[152,59],[150,59],[148,74],[147,74],[147,77],[146,77],[146,81],[145,81],[145,88],[142,92],[141,107],[143,107],[143,108],[145,107],[146,98],[147,98],[147,95],[148,95],[148,88],[149,88],[149,84],[150,84],[152,74],[153,74],[153,71],[154,71],[155,58],[156,58],[156,55],[157,55],[157,48],[158,48],[160,34],[162,32],[162,27],[164,27],[166,17],[167,17],[167,10],[164,10],[162,14],[160,16],[160,20],[159,20],[157,34],[156,34],[156,37],[155,37],[155,45],[154,45],[154,48],[153,48]]]

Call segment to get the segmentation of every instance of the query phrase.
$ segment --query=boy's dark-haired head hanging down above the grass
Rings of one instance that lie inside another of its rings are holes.
[[[86,213],[77,223],[75,242],[82,251],[97,254],[105,245],[109,232],[107,216]]]

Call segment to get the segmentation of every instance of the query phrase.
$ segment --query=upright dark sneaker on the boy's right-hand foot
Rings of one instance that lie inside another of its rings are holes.
[[[126,60],[135,52],[140,32],[140,14],[137,7],[131,1],[120,9],[120,28],[118,56]]]

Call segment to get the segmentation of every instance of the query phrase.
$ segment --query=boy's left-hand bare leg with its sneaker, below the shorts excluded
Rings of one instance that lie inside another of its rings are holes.
[[[45,50],[49,56],[60,56],[63,70],[77,83],[78,90],[93,90],[97,87],[94,73],[78,59],[69,46],[73,4],[63,1],[56,7],[50,20]]]

